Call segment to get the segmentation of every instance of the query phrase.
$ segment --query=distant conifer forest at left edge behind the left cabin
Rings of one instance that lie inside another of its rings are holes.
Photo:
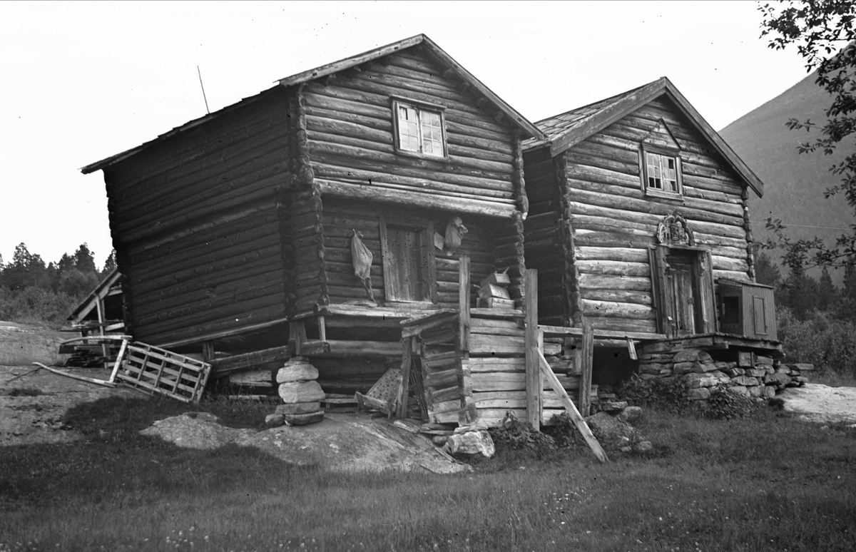
[[[11,262],[0,256],[0,320],[62,324],[74,307],[101,279],[116,268],[116,253],[98,270],[86,243],[74,254],[63,253],[56,263],[45,264],[24,243],[15,247]]]

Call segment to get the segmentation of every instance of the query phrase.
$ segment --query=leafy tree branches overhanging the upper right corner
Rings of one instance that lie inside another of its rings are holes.
[[[782,0],[764,3],[758,9],[763,15],[761,37],[769,37],[770,48],[783,50],[796,45],[805,68],[817,71],[817,86],[822,86],[832,98],[823,125],[793,118],[786,123],[791,130],[819,132],[819,137],[801,143],[798,151],[823,151],[831,155],[842,142],[852,147],[852,140],[847,138],[856,133],[856,42],[852,42],[856,2]],[[825,197],[843,194],[856,214],[856,151],[848,151],[844,160],[829,170],[841,176],[841,184],[827,189]],[[767,229],[775,235],[767,246],[782,246],[782,262],[794,273],[807,266],[844,266],[856,262],[856,224],[831,247],[819,238],[789,238],[782,221],[772,217],[767,219]]]

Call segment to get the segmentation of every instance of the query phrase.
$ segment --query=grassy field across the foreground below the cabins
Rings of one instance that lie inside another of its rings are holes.
[[[255,407],[203,409],[252,426]],[[86,441],[0,448],[0,551],[852,550],[856,430],[764,408],[728,422],[649,412],[646,454],[501,451],[461,476],[296,469],[253,449],[137,431],[186,407],[109,400]]]

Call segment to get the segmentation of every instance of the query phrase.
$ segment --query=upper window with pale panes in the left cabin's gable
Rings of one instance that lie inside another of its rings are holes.
[[[443,108],[422,104],[393,102],[395,110],[395,147],[398,151],[446,157]]]

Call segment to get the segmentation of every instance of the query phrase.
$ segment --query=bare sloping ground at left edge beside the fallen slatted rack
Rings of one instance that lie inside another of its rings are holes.
[[[109,396],[139,396],[130,389],[99,387],[46,370],[27,373],[35,369],[0,365],[0,447],[74,441],[80,434],[62,424],[69,408]],[[86,377],[110,377],[109,370],[67,370]]]

